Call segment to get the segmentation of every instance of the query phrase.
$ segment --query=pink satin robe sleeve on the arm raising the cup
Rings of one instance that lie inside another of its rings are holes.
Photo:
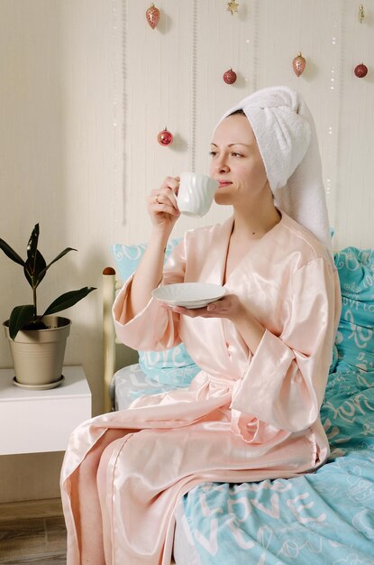
[[[183,282],[186,271],[185,244],[180,242],[169,255],[160,284]],[[129,297],[133,275],[123,284],[113,305],[114,328],[117,338],[133,349],[161,351],[177,346],[179,314],[162,308],[160,301],[151,298],[141,312],[129,319]]]

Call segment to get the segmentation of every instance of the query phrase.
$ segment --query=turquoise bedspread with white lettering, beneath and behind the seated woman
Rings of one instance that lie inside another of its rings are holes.
[[[374,372],[330,375],[322,417],[332,456],[315,473],[184,497],[202,565],[374,564]]]

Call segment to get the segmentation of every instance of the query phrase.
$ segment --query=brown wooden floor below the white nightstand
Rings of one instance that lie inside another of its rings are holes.
[[[66,565],[59,499],[0,504],[0,563]]]

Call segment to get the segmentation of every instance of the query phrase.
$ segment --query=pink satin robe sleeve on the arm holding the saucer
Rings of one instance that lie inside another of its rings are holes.
[[[340,314],[337,273],[322,258],[290,282],[279,336],[268,329],[233,391],[233,410],[285,431],[303,431],[319,417]]]

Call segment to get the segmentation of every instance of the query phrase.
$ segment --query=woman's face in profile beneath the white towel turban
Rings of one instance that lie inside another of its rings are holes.
[[[226,117],[214,132],[210,175],[219,181],[217,204],[260,203],[269,182],[251,124],[246,116]]]

